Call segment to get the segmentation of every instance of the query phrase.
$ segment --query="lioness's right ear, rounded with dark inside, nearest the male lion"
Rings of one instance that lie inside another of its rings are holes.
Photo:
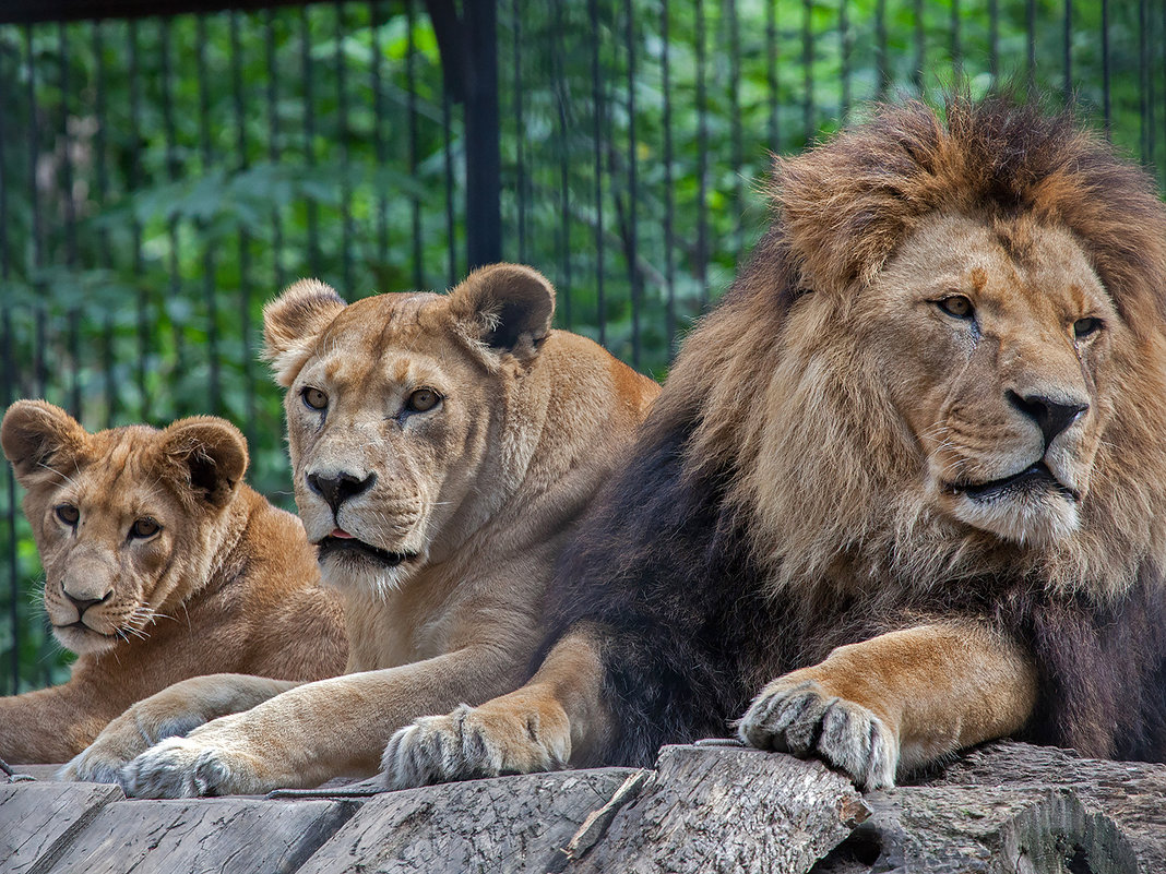
[[[555,289],[529,267],[492,265],[449,292],[449,311],[471,340],[532,358],[550,331]]]

